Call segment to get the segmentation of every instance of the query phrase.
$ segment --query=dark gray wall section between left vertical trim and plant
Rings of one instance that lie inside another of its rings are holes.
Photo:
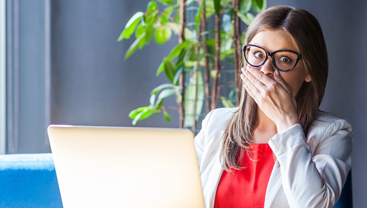
[[[52,123],[131,126],[128,113],[149,105],[150,91],[167,82],[155,72],[177,37],[166,45],[152,41],[127,60],[133,39],[116,42],[127,20],[147,3],[52,1]],[[153,116],[137,126],[177,127],[178,113],[170,113],[171,123]]]

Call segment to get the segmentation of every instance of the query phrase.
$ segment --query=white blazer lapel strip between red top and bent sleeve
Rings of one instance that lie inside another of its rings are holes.
[[[268,187],[266,188],[264,208],[270,208],[280,187],[281,187],[280,168],[277,167],[276,164],[274,164],[272,174],[270,175],[269,178]]]

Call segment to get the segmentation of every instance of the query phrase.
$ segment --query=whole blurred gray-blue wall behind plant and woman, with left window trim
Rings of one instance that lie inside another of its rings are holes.
[[[49,124],[132,126],[131,110],[149,105],[164,45],[150,42],[124,60],[133,39],[117,42],[149,0],[0,0],[0,153],[50,152]],[[367,204],[367,1],[268,0],[304,8],[324,32],[329,76],[321,110],[352,124],[353,204]],[[245,27],[243,28],[243,30]],[[174,99],[166,105],[177,106]],[[178,127],[178,113],[136,126]]]

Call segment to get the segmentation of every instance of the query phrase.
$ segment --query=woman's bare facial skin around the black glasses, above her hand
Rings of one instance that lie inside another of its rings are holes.
[[[260,46],[268,52],[275,52],[277,50],[292,50],[299,53],[294,46],[290,35],[283,30],[262,30],[255,34],[249,44]],[[273,74],[275,73],[276,68],[274,67],[271,59],[271,57],[268,57],[264,65],[256,68],[273,79]],[[302,86],[302,83],[305,80],[306,82],[311,81],[311,77],[306,72],[302,59],[299,60],[297,65],[290,71],[279,71],[279,73],[280,76],[283,77],[284,82],[286,82],[288,87],[291,89],[294,97],[296,97],[299,89]]]

